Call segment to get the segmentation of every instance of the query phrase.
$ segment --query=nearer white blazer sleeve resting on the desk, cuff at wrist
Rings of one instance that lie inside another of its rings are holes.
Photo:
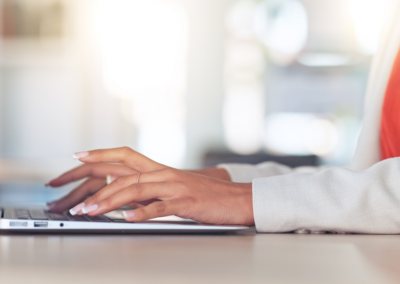
[[[258,232],[399,234],[400,158],[364,171],[336,167],[256,178],[253,210]]]

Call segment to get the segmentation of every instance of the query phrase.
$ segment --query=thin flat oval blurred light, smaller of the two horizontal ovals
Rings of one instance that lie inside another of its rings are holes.
[[[333,67],[353,63],[352,57],[344,53],[309,52],[301,54],[297,61],[309,67]]]

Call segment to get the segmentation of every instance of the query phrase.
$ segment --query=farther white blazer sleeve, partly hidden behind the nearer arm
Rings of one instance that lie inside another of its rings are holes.
[[[252,182],[255,178],[286,175],[291,173],[312,173],[324,167],[298,167],[288,166],[275,162],[265,162],[258,165],[249,164],[219,164],[218,168],[225,169],[233,182]]]

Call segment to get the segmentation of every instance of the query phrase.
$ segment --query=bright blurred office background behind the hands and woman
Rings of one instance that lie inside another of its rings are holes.
[[[0,178],[76,151],[347,165],[390,0],[1,0]],[[4,200],[4,199],[3,199]]]

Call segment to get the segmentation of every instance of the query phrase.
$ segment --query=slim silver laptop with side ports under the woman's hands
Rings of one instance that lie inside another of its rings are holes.
[[[127,222],[122,211],[96,217],[53,213],[43,208],[0,208],[0,232],[16,233],[225,233],[246,226],[210,225],[175,216]]]

